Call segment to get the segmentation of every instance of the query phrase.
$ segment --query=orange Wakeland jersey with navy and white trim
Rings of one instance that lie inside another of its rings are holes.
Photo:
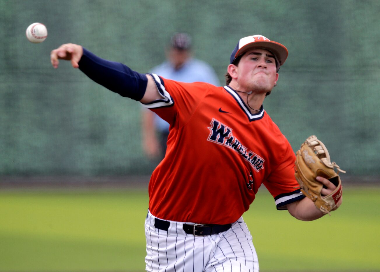
[[[277,209],[295,190],[295,155],[261,106],[252,114],[229,86],[183,83],[152,74],[162,99],[144,104],[170,124],[165,158],[149,182],[149,210],[165,220],[237,220],[263,183]]]

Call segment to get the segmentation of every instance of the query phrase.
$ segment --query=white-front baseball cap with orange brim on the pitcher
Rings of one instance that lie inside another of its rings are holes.
[[[277,72],[288,57],[288,49],[282,44],[271,41],[262,35],[253,35],[239,40],[235,49],[232,51],[230,63],[232,64],[237,57],[254,48],[266,49],[273,53],[276,59]]]

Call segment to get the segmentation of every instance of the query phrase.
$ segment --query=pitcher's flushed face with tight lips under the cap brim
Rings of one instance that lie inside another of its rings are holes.
[[[273,54],[265,49],[245,53],[237,66],[237,83],[242,90],[271,91],[279,74]]]

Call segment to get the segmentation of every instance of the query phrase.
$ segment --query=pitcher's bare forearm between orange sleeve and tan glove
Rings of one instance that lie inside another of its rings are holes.
[[[296,219],[302,221],[312,221],[318,218],[321,218],[323,212],[318,210],[313,201],[309,198],[305,197],[302,200],[290,203],[287,205],[288,211],[291,215],[293,215]]]

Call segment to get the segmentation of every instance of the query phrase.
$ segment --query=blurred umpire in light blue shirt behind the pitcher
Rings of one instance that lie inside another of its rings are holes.
[[[212,67],[192,57],[192,39],[187,33],[174,33],[166,47],[167,60],[150,71],[165,79],[180,82],[207,82],[219,86]],[[156,113],[142,108],[142,147],[151,159],[162,159],[166,152],[169,123]]]

